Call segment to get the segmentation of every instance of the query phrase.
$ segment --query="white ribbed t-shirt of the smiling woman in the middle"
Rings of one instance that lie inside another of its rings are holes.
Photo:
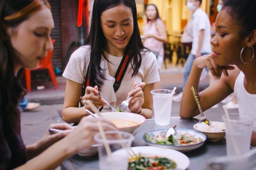
[[[77,49],[71,55],[68,65],[64,70],[63,76],[76,83],[83,83],[86,70],[90,60],[90,46],[85,45]],[[132,66],[129,64],[120,88],[114,93],[113,84],[114,76],[122,60],[122,57],[112,56],[105,52],[105,56],[110,62],[107,62],[102,56],[101,68],[104,70],[103,75],[107,78],[100,89],[101,96],[107,100],[113,107],[118,108],[122,101],[127,99],[128,93],[132,90],[133,83],[145,82],[146,84],[160,81],[156,65],[156,57],[152,52],[141,52],[142,64],[136,76],[132,77]],[[103,108],[103,112],[110,111],[108,107]]]

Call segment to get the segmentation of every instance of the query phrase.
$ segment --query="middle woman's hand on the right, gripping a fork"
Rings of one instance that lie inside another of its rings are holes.
[[[128,93],[128,97],[132,97],[129,101],[128,108],[132,113],[139,113],[140,108],[144,104],[144,93],[142,91],[146,83],[134,83],[132,90]]]

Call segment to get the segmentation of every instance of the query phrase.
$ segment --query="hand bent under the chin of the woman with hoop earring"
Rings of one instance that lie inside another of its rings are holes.
[[[215,79],[220,79],[220,76],[222,72],[224,73],[224,76],[228,78],[228,71],[231,69],[235,69],[234,66],[219,66],[215,62],[213,53],[206,54],[204,56],[198,57],[194,60],[194,64],[200,68],[203,69],[205,67],[209,68],[211,74]]]

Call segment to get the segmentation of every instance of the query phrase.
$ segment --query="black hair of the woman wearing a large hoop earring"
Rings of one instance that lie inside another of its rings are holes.
[[[256,29],[256,0],[223,0],[223,8],[240,25],[241,38]]]

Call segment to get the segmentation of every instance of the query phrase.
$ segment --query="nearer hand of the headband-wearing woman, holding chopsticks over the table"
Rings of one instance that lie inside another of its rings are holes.
[[[75,150],[75,153],[87,149],[95,144],[93,136],[99,132],[97,122],[100,121],[104,131],[115,131],[117,128],[114,124],[104,118],[88,118],[81,119],[78,127],[69,133],[63,140]]]

